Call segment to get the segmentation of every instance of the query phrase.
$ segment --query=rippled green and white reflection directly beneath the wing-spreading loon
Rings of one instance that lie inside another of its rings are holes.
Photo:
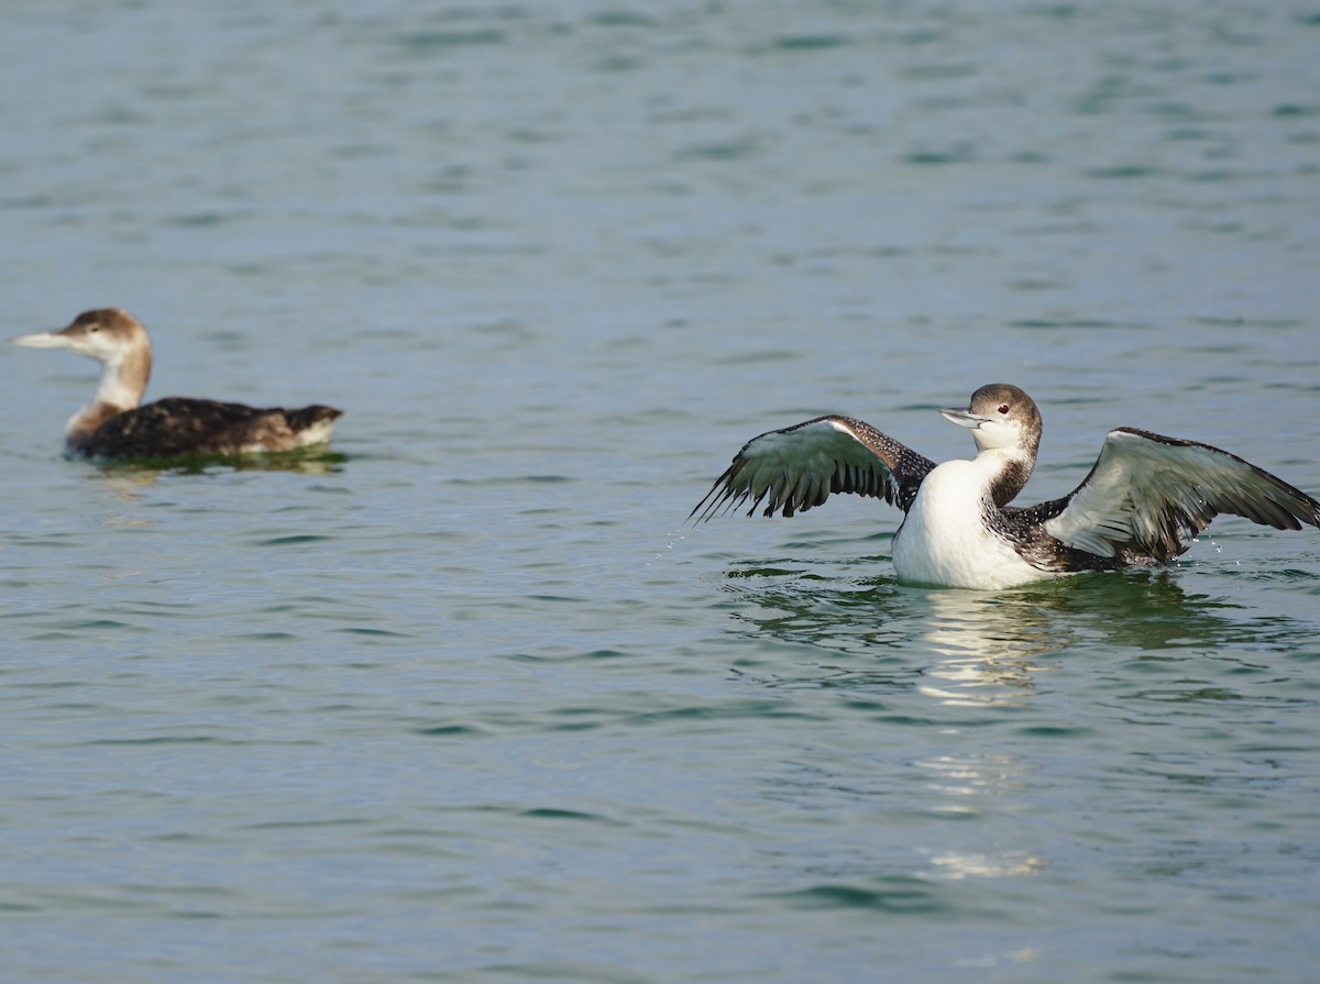
[[[863,557],[849,567],[874,570],[883,559]],[[795,663],[792,675],[776,661],[764,683],[915,687],[945,703],[1015,703],[1031,696],[1038,674],[1082,645],[1151,656],[1259,646],[1307,632],[1300,623],[1233,617],[1239,605],[1188,592],[1160,570],[1078,575],[994,595],[838,574],[837,561],[801,559],[729,571],[725,588],[741,600],[735,619],[756,636],[809,645],[824,657]],[[737,669],[758,675],[763,663],[750,657]]]

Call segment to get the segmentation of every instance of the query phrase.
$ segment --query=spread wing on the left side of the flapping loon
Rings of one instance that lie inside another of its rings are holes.
[[[688,518],[709,520],[748,499],[751,516],[821,505],[832,492],[875,496],[907,512],[935,467],[912,448],[851,417],[817,417],[752,438]]]

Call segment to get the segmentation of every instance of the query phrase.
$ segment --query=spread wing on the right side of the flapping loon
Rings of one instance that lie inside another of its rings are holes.
[[[1086,479],[1023,510],[1067,546],[1167,562],[1220,513],[1275,529],[1320,526],[1320,503],[1228,451],[1135,427],[1109,431]]]

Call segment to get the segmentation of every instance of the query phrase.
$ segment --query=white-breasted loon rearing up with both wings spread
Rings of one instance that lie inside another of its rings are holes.
[[[1010,588],[1081,571],[1168,563],[1218,513],[1275,529],[1320,526],[1320,503],[1217,447],[1137,427],[1109,431],[1082,483],[1063,499],[1008,505],[1040,447],[1040,410],[993,383],[966,409],[941,410],[972,430],[973,460],[936,464],[851,417],[817,417],[748,441],[689,520],[747,500],[792,516],[832,492],[883,499],[904,513],[894,534],[903,583]]]

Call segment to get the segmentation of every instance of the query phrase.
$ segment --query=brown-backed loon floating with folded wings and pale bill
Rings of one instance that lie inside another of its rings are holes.
[[[330,441],[331,406],[257,409],[166,397],[139,406],[152,373],[147,328],[120,307],[83,311],[62,331],[9,339],[29,348],[67,348],[104,363],[96,396],[70,418],[65,443],[86,458],[132,459],[290,451]]]

